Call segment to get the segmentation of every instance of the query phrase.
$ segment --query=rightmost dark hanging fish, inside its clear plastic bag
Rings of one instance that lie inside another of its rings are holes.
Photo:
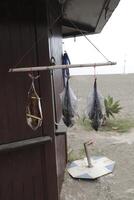
[[[92,97],[91,108],[88,113],[89,118],[91,119],[91,126],[93,129],[98,131],[99,126],[101,125],[103,119],[102,106],[100,98],[97,91],[97,82],[94,81],[94,91]]]

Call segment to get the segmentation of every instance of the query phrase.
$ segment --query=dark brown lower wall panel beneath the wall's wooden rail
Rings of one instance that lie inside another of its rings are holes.
[[[40,157],[39,148],[0,155],[0,199],[44,199]]]

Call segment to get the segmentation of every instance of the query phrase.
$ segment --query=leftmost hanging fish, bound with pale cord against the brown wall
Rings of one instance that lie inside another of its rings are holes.
[[[26,106],[26,120],[27,124],[35,131],[42,125],[42,109],[40,97],[38,96],[35,90],[34,80],[38,77],[33,77],[30,75],[32,79],[31,87],[28,91],[28,104]]]

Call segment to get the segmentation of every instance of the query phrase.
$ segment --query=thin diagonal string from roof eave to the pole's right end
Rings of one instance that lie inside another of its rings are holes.
[[[111,62],[97,47],[96,45],[74,24],[71,20],[69,20],[70,23],[73,25],[74,28],[76,28],[79,33],[85,37],[85,39],[105,58],[106,61]]]

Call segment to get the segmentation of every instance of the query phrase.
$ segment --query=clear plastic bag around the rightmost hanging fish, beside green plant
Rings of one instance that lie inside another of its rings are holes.
[[[102,96],[97,91],[96,78],[94,81],[93,93],[89,95],[88,98],[88,117],[91,120],[91,126],[94,130],[98,131],[104,113],[104,100]]]

